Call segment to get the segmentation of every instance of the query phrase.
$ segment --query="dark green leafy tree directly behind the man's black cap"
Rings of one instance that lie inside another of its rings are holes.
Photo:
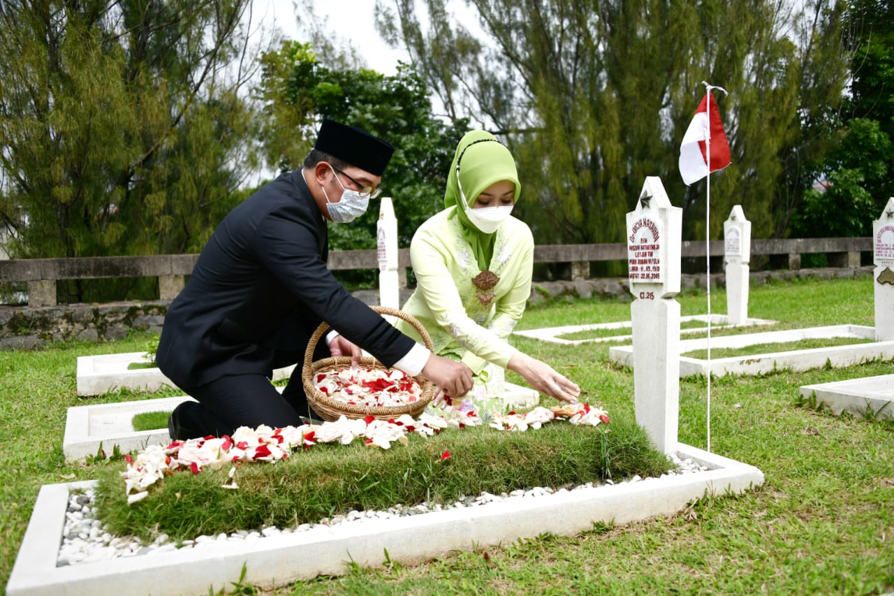
[[[382,187],[393,200],[399,244],[408,246],[417,226],[443,209],[447,170],[467,121],[445,124],[434,118],[424,81],[406,66],[392,76],[344,64],[330,67],[309,44],[296,41],[266,53],[261,63],[257,96],[266,116],[268,164],[283,171],[299,167],[323,117],[388,140],[395,152]],[[330,226],[330,247],[374,248],[377,219],[374,202],[350,226]]]

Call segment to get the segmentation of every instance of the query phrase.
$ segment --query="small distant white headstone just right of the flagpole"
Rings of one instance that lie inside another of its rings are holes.
[[[742,206],[730,210],[723,222],[726,263],[727,319],[730,325],[744,325],[748,319],[748,261],[751,260],[751,222]]]

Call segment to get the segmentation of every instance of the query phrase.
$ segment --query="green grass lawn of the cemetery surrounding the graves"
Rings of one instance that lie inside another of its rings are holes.
[[[683,315],[706,311],[704,291],[686,291],[678,301]],[[714,290],[712,311],[725,309],[725,294]],[[629,313],[629,303],[620,300],[549,302],[530,307],[519,328],[620,321],[629,319]],[[873,280],[796,279],[755,286],[749,316],[779,321],[773,329],[872,326]],[[151,339],[134,335],[102,345],[72,343],[0,353],[3,585],[39,487],[92,480],[100,467],[123,465],[65,463],[67,408],[182,395],[176,389],[151,395],[76,395],[77,356],[136,352]],[[634,420],[633,375],[611,365],[609,344],[555,345],[527,337],[511,341],[575,379],[586,391],[583,398],[607,409],[612,421]],[[833,416],[798,392],[806,384],[890,374],[892,367],[890,361],[865,362],[846,369],[712,379],[712,451],[755,465],[765,476],[762,487],[745,494],[701,499],[670,517],[598,525],[575,537],[544,534],[418,566],[389,562],[383,553],[380,569],[354,566],[347,575],[317,577],[264,593],[894,591],[894,421]],[[521,382],[512,374],[507,378]],[[706,390],[704,378],[680,379],[679,441],[703,449]],[[249,585],[234,585],[232,591],[255,593]]]

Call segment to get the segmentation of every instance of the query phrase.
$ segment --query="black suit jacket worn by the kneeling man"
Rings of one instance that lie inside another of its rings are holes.
[[[156,363],[179,387],[301,361],[326,321],[392,366],[414,342],[326,268],[326,222],[301,170],[280,175],[223,218],[164,317]],[[328,355],[320,341],[315,360]],[[291,362],[290,362],[291,361]]]

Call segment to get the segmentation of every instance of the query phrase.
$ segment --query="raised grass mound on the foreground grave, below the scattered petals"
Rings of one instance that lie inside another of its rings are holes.
[[[451,454],[442,460],[443,453]],[[230,466],[198,474],[177,472],[128,506],[121,467],[107,466],[97,486],[100,518],[110,532],[153,540],[318,523],[351,510],[401,504],[450,504],[483,491],[494,494],[536,486],[559,487],[657,476],[671,468],[645,431],[613,421],[611,428],[552,422],[524,433],[489,427],[409,437],[383,450],[362,441],[317,445],[274,464],[243,464],[229,483]]]

